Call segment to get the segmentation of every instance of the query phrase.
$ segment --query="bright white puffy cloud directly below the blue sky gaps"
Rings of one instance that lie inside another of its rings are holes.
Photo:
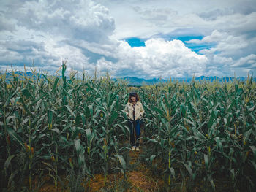
[[[201,75],[207,58],[187,48],[179,40],[148,39],[145,47],[130,47],[121,42],[118,66],[122,74],[145,78]],[[118,72],[116,73],[118,76]]]

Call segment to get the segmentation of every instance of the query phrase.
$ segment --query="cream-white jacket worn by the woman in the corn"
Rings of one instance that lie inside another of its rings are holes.
[[[133,107],[132,103],[128,102],[124,108],[124,111],[129,119],[133,120]],[[140,101],[137,101],[135,104],[135,120],[138,120],[143,117],[145,110],[143,109],[142,104]]]

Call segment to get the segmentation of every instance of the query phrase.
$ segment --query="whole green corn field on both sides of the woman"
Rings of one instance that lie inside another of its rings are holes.
[[[129,88],[110,77],[35,74],[0,79],[0,187],[37,191],[50,177],[56,190],[84,191],[94,174],[129,171]],[[254,191],[256,85],[171,82],[136,90],[145,115],[143,153],[165,190]],[[64,183],[62,176],[67,177]],[[80,183],[85,183],[84,188]],[[231,187],[230,187],[231,186]]]

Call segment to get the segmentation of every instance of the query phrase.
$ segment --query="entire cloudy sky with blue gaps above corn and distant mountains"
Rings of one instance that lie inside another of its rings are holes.
[[[256,74],[255,0],[0,0],[0,70]]]

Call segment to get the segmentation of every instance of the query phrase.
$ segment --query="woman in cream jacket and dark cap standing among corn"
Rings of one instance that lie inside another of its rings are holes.
[[[130,131],[130,144],[132,145],[133,151],[140,151],[139,145],[140,141],[140,120],[143,117],[144,109],[140,102],[137,93],[129,93],[128,103],[125,106],[124,111],[126,112],[128,118],[128,126]],[[136,134],[136,142],[135,142]]]

